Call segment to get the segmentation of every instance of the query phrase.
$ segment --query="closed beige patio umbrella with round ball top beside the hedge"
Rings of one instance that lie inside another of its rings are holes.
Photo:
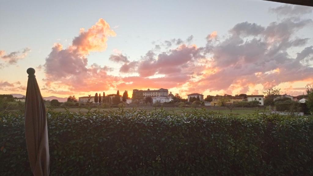
[[[46,110],[35,69],[27,69],[28,82],[25,102],[25,136],[30,167],[34,176],[49,175],[49,143]]]

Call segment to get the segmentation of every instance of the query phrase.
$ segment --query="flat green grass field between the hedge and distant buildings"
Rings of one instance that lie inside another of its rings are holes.
[[[197,109],[201,109],[202,107],[198,107]],[[208,111],[214,111],[214,112],[221,112],[223,115],[228,115],[228,114],[233,114],[233,115],[237,115],[237,116],[245,116],[247,114],[251,114],[251,113],[255,113],[255,112],[270,112],[268,110],[268,108],[266,110],[264,110],[263,108],[257,108],[257,107],[253,107],[253,108],[233,108],[232,112],[230,112],[230,110],[226,107],[220,107],[220,106],[215,106],[215,107],[203,107],[205,109],[207,109]],[[131,107],[125,107],[125,110],[131,109]],[[158,109],[160,109],[160,107],[158,107]],[[179,107],[163,107],[164,110],[169,111],[170,113],[177,113],[177,114],[181,114],[183,112],[182,108]],[[185,111],[192,111],[194,108],[184,108]],[[68,108],[68,110],[70,112],[88,112],[87,108]],[[92,108],[91,111],[95,111],[98,110],[98,108]],[[109,111],[109,110],[118,110],[118,108],[100,108],[100,111]],[[148,112],[150,111],[154,111],[155,108],[154,107],[137,107],[137,110],[146,110]],[[55,112],[64,112],[66,111],[64,108],[56,108],[53,111]]]

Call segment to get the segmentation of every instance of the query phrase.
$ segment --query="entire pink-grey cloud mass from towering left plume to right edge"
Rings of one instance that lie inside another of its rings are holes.
[[[298,15],[299,9],[289,6],[271,9],[278,14]],[[304,10],[302,13],[309,13]],[[223,91],[232,93],[261,93],[260,89],[283,83],[313,81],[313,46],[309,38],[298,35],[303,28],[312,28],[312,19],[286,17],[268,25],[242,22],[234,24],[228,34],[219,36],[213,31],[204,38],[203,46],[192,44],[193,36],[169,39],[155,44],[140,58],[130,58],[121,52],[109,60],[120,64],[123,76],[108,75],[108,66],[88,66],[87,56],[93,51],[104,51],[107,39],[115,36],[108,23],[100,19],[87,31],[63,48],[55,44],[44,65],[49,92],[59,92],[58,86],[69,91],[100,91],[116,88],[168,88],[182,95]],[[52,87],[53,87],[52,86]],[[261,88],[256,88],[259,86]],[[289,88],[290,91],[292,90]]]

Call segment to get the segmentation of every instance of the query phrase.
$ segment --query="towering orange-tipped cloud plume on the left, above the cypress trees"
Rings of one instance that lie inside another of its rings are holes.
[[[107,74],[110,68],[97,64],[88,66],[87,56],[90,52],[104,51],[108,38],[115,35],[110,25],[100,18],[87,31],[80,29],[80,35],[73,39],[68,48],[54,44],[44,64],[46,85],[67,86],[69,91],[77,92],[105,90],[114,86],[112,83],[119,78]]]

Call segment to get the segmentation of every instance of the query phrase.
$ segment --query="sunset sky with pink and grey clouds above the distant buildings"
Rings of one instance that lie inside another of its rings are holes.
[[[165,88],[299,95],[313,85],[313,8],[262,0],[1,1],[0,94]]]

